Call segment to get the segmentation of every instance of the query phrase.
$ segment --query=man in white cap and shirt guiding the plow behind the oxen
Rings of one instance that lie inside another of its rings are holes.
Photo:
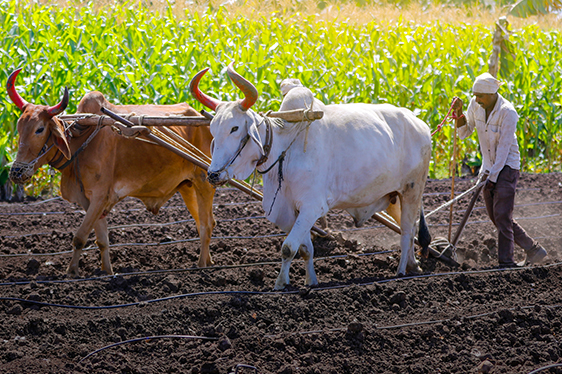
[[[519,115],[513,105],[498,93],[501,83],[488,73],[476,78],[472,86],[474,97],[466,114],[463,102],[455,98],[453,110],[459,137],[464,139],[478,132],[482,152],[482,170],[488,176],[484,186],[484,201],[490,219],[498,229],[498,259],[500,267],[515,267],[541,262],[546,250],[533,240],[513,219],[515,187],[519,180],[519,146],[515,136]],[[525,250],[524,263],[513,260],[514,243]]]

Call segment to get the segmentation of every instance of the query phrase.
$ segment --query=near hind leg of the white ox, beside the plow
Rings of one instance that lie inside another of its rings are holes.
[[[414,237],[416,234],[416,218],[418,216],[418,204],[402,199],[402,214],[400,222],[400,263],[398,264],[398,276],[406,274],[421,273],[421,268],[414,255]]]

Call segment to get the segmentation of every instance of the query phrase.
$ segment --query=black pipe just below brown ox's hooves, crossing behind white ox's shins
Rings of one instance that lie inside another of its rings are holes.
[[[394,253],[395,251],[380,251],[380,252],[369,252],[369,253],[356,253],[353,256],[374,256],[386,253]],[[334,256],[327,256],[327,257],[316,257],[314,258],[314,262],[316,261],[325,261],[325,260],[334,260],[338,258],[349,258],[349,255],[334,255]],[[303,260],[296,260],[302,262]],[[206,268],[187,268],[187,269],[167,269],[167,270],[148,270],[148,271],[139,271],[133,273],[121,273],[121,274],[114,274],[114,275],[104,275],[100,277],[91,277],[91,278],[79,278],[79,279],[62,279],[62,280],[45,280],[45,281],[16,281],[16,282],[8,282],[8,283],[0,283],[0,286],[23,286],[30,283],[36,284],[57,284],[57,283],[76,283],[76,282],[86,282],[86,281],[97,281],[103,280],[107,278],[116,278],[116,277],[126,277],[126,276],[138,276],[138,275],[158,275],[158,274],[168,274],[168,273],[185,273],[185,272],[200,272],[200,271],[216,271],[216,270],[225,270],[225,269],[238,269],[238,268],[245,268],[245,267],[254,267],[254,266],[266,266],[266,265],[279,265],[280,262],[276,261],[269,261],[269,262],[252,262],[246,264],[238,264],[238,265],[222,265],[222,266],[212,266]]]

